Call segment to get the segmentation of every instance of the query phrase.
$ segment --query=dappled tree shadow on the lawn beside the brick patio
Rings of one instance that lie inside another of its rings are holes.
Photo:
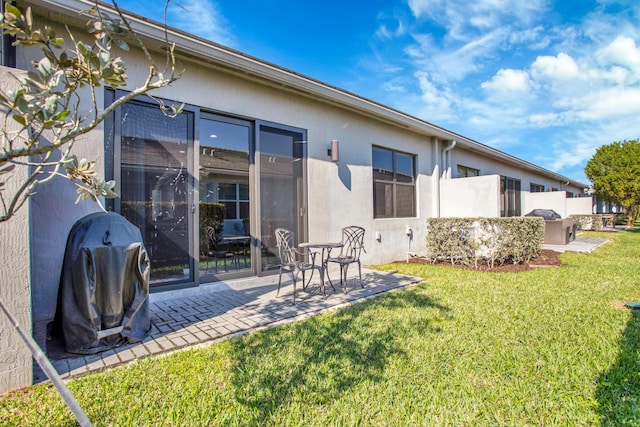
[[[344,400],[354,387],[384,380],[387,364],[406,357],[399,340],[438,333],[433,320],[448,318],[449,309],[428,296],[396,292],[234,340],[236,401],[253,414],[252,424],[280,410]]]

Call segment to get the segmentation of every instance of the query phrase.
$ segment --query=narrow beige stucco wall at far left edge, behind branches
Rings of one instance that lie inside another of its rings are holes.
[[[11,74],[17,73],[20,72],[0,67],[0,88],[3,91],[15,87]],[[7,180],[3,194],[15,191],[26,176],[26,167],[18,166]],[[5,258],[0,273],[0,299],[27,334],[31,333],[28,237],[27,206],[11,220],[0,223],[0,253]],[[0,312],[0,394],[30,385],[32,372],[31,352],[4,313]]]

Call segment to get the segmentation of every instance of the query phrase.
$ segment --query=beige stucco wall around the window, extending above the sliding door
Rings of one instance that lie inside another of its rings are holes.
[[[140,63],[127,59],[127,63]],[[187,102],[202,109],[284,124],[307,130],[309,239],[336,241],[347,225],[366,229],[365,264],[405,257],[409,240],[406,226],[414,230],[414,242],[424,241],[425,221],[431,213],[431,142],[429,138],[383,124],[363,115],[338,109],[282,88],[247,81],[183,60],[182,78],[157,96]],[[145,71],[129,69],[132,80]],[[327,149],[340,141],[340,160],[331,162]],[[417,218],[373,218],[372,147],[401,149],[418,159]],[[375,239],[375,233],[381,235]]]

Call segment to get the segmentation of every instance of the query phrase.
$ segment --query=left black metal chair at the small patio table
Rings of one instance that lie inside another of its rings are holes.
[[[288,271],[291,273],[291,279],[293,281],[293,303],[296,303],[296,280],[299,273],[302,273],[302,286],[304,288],[305,272],[309,270],[318,270],[320,273],[320,288],[322,289],[322,295],[326,298],[324,289],[324,270],[322,265],[316,265],[317,252],[309,252],[311,262],[300,261],[304,259],[304,253],[299,251],[295,247],[294,234],[291,230],[286,228],[276,228],[276,244],[278,247],[278,254],[280,256],[280,277],[278,278],[278,292],[276,297],[280,295],[280,284],[282,283],[282,272]],[[321,261],[322,262],[322,261]]]

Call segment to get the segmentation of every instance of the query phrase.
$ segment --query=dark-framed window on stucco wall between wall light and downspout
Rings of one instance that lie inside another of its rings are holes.
[[[416,216],[416,159],[412,154],[373,147],[373,216]]]

